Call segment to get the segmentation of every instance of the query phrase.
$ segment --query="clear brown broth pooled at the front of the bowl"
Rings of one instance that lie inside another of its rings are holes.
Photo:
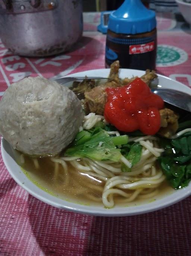
[[[103,206],[101,196],[104,182],[100,179],[85,175],[69,163],[68,175],[65,174],[61,164],[58,164],[58,169],[55,173],[55,163],[51,161],[50,157],[38,158],[39,168],[37,169],[32,157],[24,156],[25,163],[21,164],[21,153],[16,151],[15,156],[31,181],[53,196],[77,204]],[[173,193],[174,190],[166,181],[163,181],[159,186],[159,191],[160,193],[153,198],[135,199],[133,202],[128,203],[120,202],[122,197],[115,196],[115,205],[125,207],[147,204]]]

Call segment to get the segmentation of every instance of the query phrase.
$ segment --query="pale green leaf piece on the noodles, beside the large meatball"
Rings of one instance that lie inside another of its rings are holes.
[[[90,133],[90,137],[86,137],[83,143],[80,142],[79,144],[78,138],[82,141],[84,137],[81,137],[78,133],[74,140],[75,145],[72,145],[71,148],[65,151],[65,156],[88,157],[93,160],[112,160],[118,162],[122,154],[120,149],[116,148],[116,145],[119,145],[119,143],[126,144],[128,141],[128,136],[110,137],[100,127],[95,128]]]

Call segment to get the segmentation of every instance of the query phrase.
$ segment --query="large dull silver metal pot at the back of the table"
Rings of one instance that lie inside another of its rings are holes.
[[[0,0],[0,38],[16,55],[67,51],[82,30],[81,0]]]

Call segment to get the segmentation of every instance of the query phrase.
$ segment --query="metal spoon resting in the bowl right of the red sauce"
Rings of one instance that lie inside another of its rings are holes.
[[[159,95],[164,102],[191,112],[191,95],[182,91],[165,88],[154,88],[151,91]]]

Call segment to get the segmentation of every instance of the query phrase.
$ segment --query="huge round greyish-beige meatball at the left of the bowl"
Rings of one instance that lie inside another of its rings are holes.
[[[69,88],[41,77],[12,84],[0,101],[0,133],[32,156],[56,155],[82,124],[81,103]]]

